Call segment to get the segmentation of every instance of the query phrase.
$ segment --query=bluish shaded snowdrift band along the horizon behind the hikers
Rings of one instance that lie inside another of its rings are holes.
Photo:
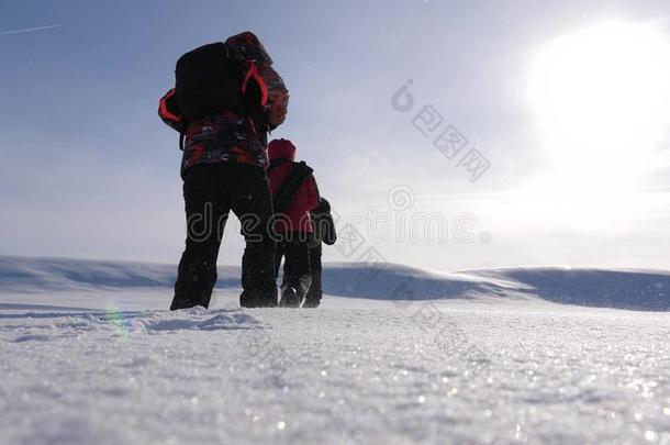
[[[170,292],[168,264],[0,256],[0,292],[45,293],[155,289]],[[393,264],[324,265],[330,296],[373,300],[531,298],[629,310],[670,310],[670,272],[576,268],[505,268],[438,272]],[[239,288],[239,268],[220,267],[217,289]]]

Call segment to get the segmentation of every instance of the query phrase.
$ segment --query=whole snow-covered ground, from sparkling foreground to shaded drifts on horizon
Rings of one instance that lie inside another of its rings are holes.
[[[223,268],[170,313],[174,271],[1,257],[0,442],[670,444],[667,272],[331,265],[241,310]]]

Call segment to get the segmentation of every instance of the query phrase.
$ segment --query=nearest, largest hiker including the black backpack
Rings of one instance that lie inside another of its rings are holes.
[[[289,94],[271,65],[258,38],[244,32],[185,54],[176,87],[160,99],[159,115],[180,132],[183,149],[187,240],[172,310],[209,305],[231,210],[246,241],[239,304],[277,305],[266,144],[286,118]]]

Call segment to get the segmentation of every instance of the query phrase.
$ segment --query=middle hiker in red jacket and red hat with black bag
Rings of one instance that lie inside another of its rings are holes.
[[[275,199],[273,232],[277,237],[276,275],[284,257],[283,282],[279,305],[298,308],[312,282],[309,236],[313,232],[310,211],[320,202],[314,176],[304,163],[295,163],[295,146],[288,140],[275,140],[268,146],[270,168],[268,178]],[[295,183],[297,175],[304,173]],[[295,183],[283,201],[288,183]]]

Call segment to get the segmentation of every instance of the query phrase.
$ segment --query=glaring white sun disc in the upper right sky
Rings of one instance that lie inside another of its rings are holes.
[[[528,87],[552,187],[611,190],[654,167],[670,120],[670,42],[661,32],[606,22],[558,37],[535,55]]]

